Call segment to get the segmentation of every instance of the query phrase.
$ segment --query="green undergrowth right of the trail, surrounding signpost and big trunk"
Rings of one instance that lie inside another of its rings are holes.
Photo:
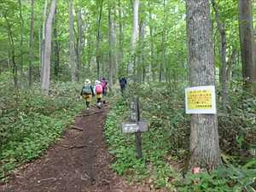
[[[143,158],[136,158],[134,134],[123,134],[121,123],[129,119],[130,92],[113,97],[105,125],[105,137],[115,160],[112,168],[130,181],[148,183],[168,191],[248,191],[255,188],[256,162],[248,149],[255,144],[255,99],[241,101],[242,90],[230,96],[228,113],[218,104],[218,130],[224,166],[201,174],[188,173],[189,115],[184,112],[183,89],[165,84],[143,84],[136,89],[142,116]],[[135,90],[135,89],[134,89]],[[254,141],[254,142],[253,142]]]

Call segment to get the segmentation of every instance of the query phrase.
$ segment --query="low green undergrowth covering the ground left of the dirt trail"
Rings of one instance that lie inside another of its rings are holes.
[[[33,90],[0,91],[0,179],[16,167],[34,160],[58,141],[74,116],[84,108],[79,102],[79,84],[51,84],[49,96]]]

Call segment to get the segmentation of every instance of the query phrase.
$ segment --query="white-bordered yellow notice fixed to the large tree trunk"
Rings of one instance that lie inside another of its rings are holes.
[[[215,86],[190,87],[185,95],[186,113],[216,113]]]

